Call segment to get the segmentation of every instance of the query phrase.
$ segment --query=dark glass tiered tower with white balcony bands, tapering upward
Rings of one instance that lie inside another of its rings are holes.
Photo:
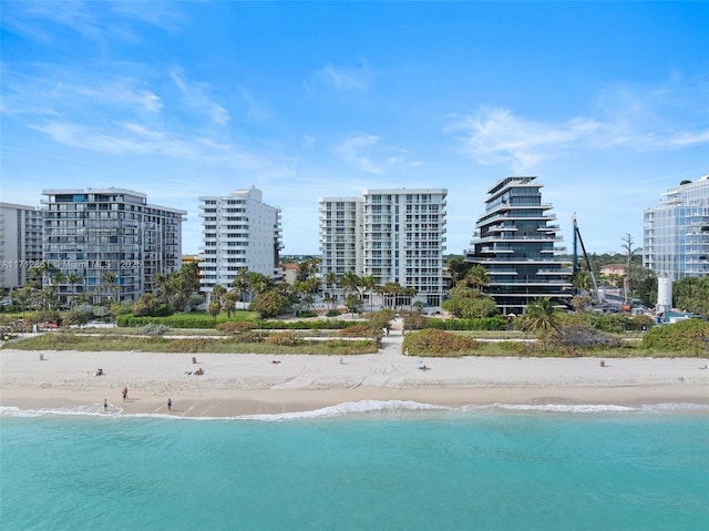
[[[487,269],[485,294],[503,314],[521,314],[540,297],[559,304],[572,298],[572,269],[557,254],[559,226],[552,205],[542,203],[536,177],[506,177],[487,191],[466,262]]]

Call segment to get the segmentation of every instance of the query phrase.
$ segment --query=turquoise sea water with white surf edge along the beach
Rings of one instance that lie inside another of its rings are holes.
[[[0,408],[3,530],[699,530],[709,410]]]

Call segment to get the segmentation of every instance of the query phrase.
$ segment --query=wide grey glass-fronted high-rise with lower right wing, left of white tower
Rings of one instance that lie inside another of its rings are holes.
[[[60,302],[137,300],[179,270],[185,211],[123,188],[45,190],[43,259],[62,273]]]

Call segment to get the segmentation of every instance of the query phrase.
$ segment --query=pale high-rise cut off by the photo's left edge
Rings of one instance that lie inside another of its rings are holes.
[[[42,211],[0,203],[0,286],[24,286],[42,259]]]

